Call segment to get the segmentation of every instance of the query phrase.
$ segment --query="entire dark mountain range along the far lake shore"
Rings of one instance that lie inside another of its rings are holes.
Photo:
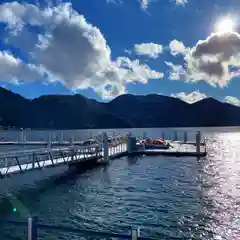
[[[238,126],[240,108],[213,98],[188,104],[153,94],[122,95],[109,103],[81,95],[28,100],[0,88],[0,124],[34,129]]]

